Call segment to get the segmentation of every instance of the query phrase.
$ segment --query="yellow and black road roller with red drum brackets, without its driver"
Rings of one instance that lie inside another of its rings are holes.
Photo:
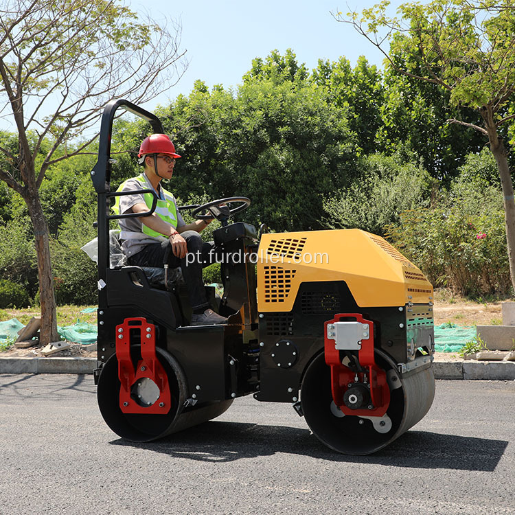
[[[206,291],[225,325],[190,325],[180,269],[113,260],[111,220],[135,216],[110,211],[120,194],[110,189],[119,108],[163,133],[155,115],[127,100],[104,108],[91,178],[98,194],[94,378],[106,424],[119,437],[150,442],[252,395],[291,404],[292,416],[304,417],[331,449],[367,455],[419,422],[435,392],[433,288],[380,236],[258,231],[233,220],[249,205],[244,197],[187,206],[196,218],[221,222],[213,238],[223,290]]]

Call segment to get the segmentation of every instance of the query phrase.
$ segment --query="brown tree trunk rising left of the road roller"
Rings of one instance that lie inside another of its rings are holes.
[[[39,340],[43,345],[59,341],[57,332],[56,299],[54,297],[54,275],[50,260],[49,230],[39,201],[38,190],[25,198],[29,208],[29,216],[34,227],[36,255],[38,257],[39,298],[41,302],[41,329]]]

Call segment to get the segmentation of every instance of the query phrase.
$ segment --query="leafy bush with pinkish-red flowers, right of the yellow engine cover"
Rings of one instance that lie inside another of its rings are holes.
[[[512,291],[502,194],[488,181],[461,176],[439,205],[404,211],[386,236],[433,286],[470,296]]]

